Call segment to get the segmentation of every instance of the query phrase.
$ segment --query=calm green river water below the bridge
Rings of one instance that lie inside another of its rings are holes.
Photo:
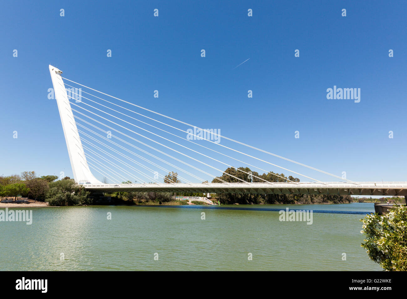
[[[244,207],[374,211],[372,203]],[[282,222],[278,212],[257,210],[140,206],[31,210],[31,225],[0,222],[2,271],[381,270],[360,246],[359,219],[364,216],[358,214],[314,212],[312,225],[307,225]]]

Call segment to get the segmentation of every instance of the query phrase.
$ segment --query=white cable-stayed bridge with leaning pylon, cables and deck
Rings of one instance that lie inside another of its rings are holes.
[[[87,189],[407,196],[407,182],[350,181],[225,137],[219,130],[202,129],[110,96],[62,77],[52,65],[49,70],[74,179]],[[272,163],[271,158],[339,182],[319,181],[291,166]],[[243,167],[234,167],[236,163]],[[290,176],[266,170],[271,167]],[[310,181],[300,182],[293,175]]]

